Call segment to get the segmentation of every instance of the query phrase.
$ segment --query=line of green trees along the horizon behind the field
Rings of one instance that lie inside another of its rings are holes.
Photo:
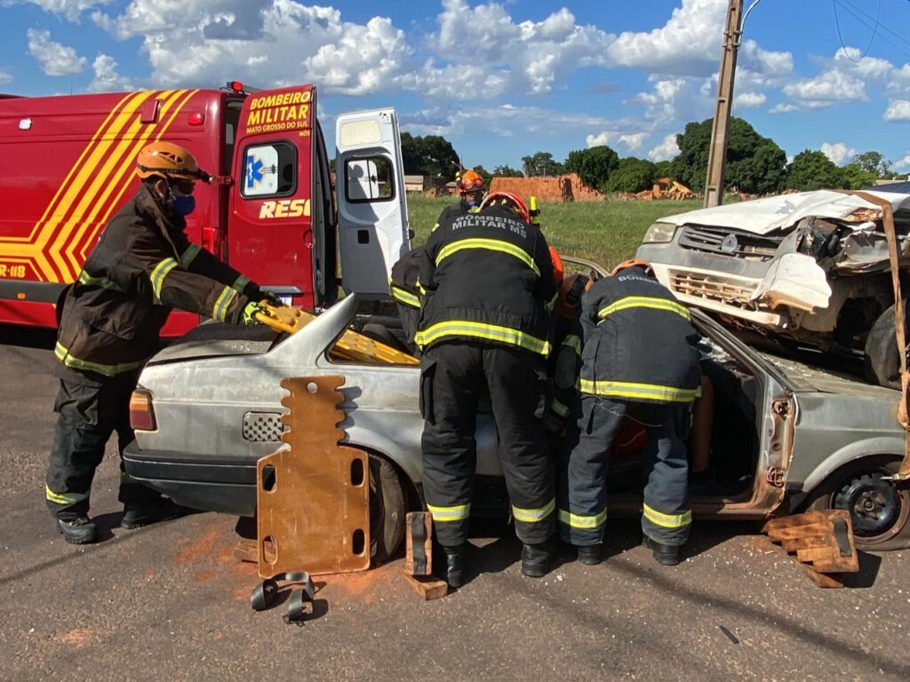
[[[676,135],[680,152],[671,161],[626,156],[621,158],[607,145],[569,153],[556,161],[549,152],[537,152],[521,159],[521,170],[498,165],[491,172],[474,168],[489,184],[492,176],[540,177],[575,173],[581,182],[602,193],[640,192],[659,179],[670,177],[695,192],[704,191],[713,119],[693,122]],[[401,134],[401,155],[405,173],[433,176],[446,182],[454,179],[460,161],[452,145],[439,135],[425,137]],[[851,163],[838,166],[823,152],[805,149],[787,160],[784,150],[770,137],[759,135],[752,125],[733,116],[728,129],[724,184],[728,190],[767,195],[785,189],[859,189],[875,185],[876,179],[895,173],[880,152],[855,155]]]

